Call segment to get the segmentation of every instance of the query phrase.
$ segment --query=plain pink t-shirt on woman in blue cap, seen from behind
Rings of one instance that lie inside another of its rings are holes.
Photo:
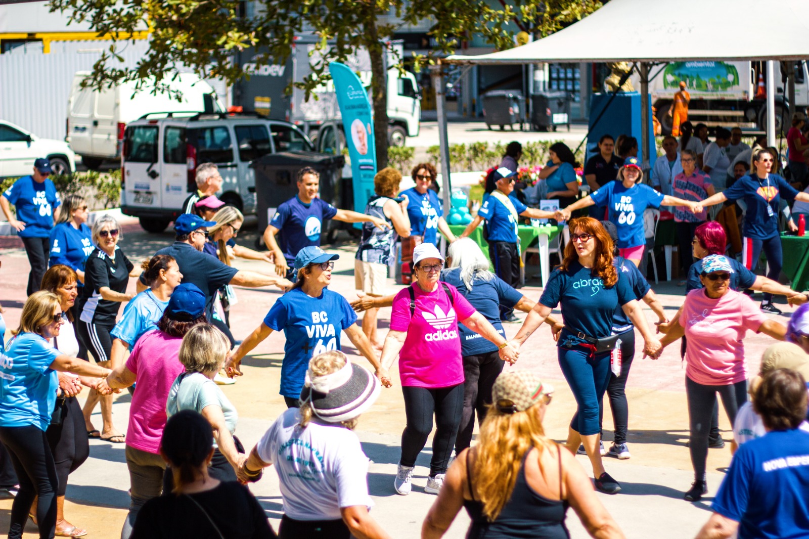
[[[159,329],[143,333],[135,343],[126,368],[135,373],[135,393],[129,407],[126,444],[157,454],[166,427],[168,390],[185,370],[180,363],[182,337],[169,337]]]

